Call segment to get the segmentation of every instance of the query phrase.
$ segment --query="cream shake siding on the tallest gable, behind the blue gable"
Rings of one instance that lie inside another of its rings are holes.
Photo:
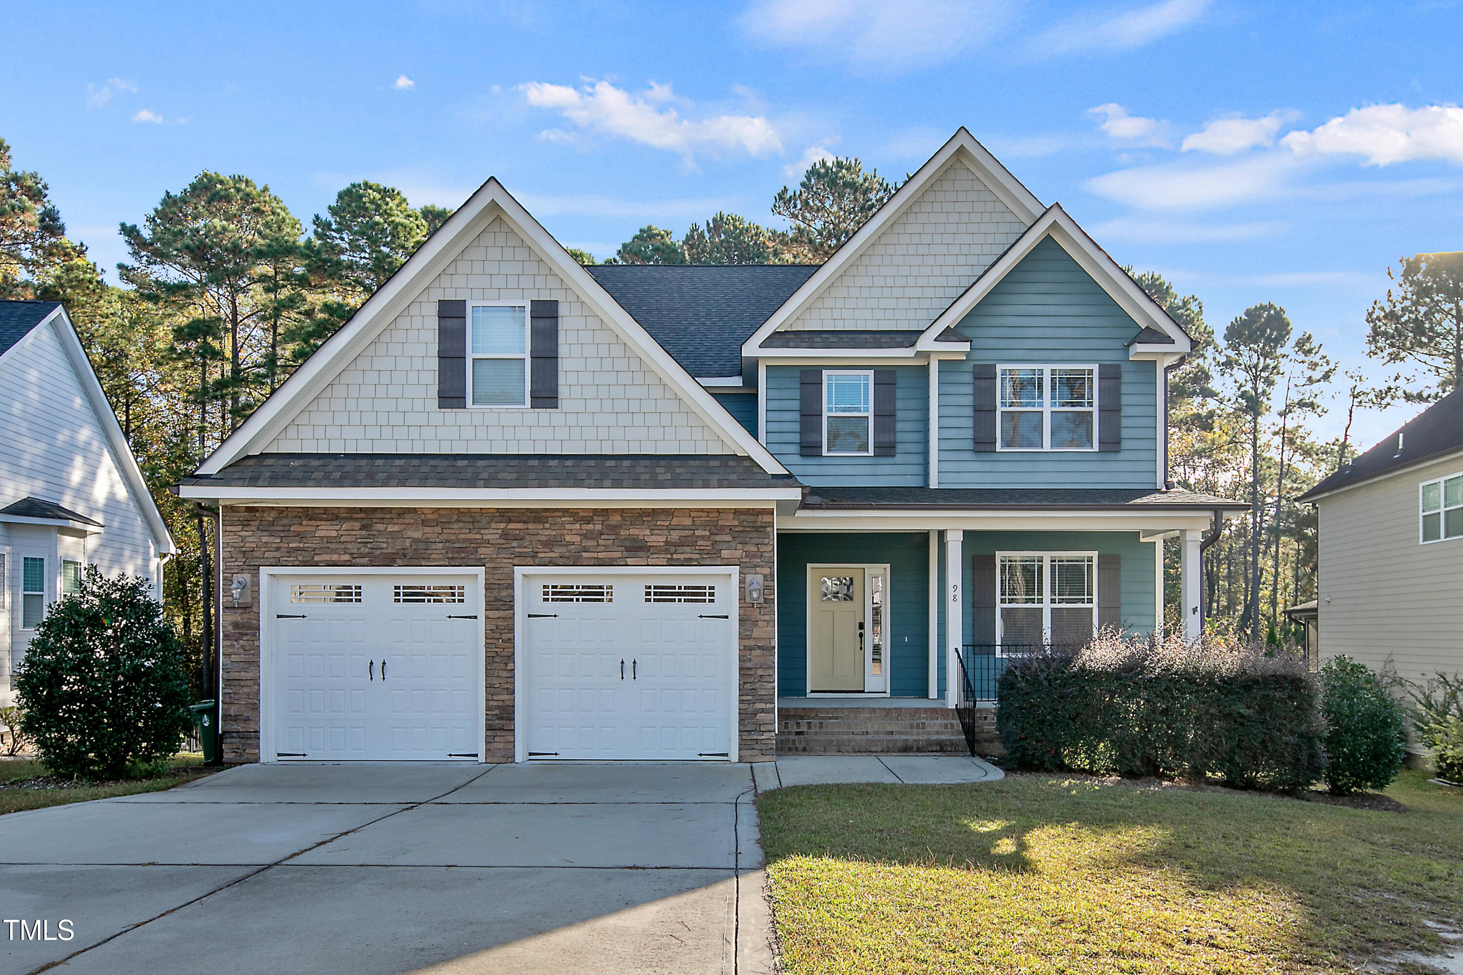
[[[1024,231],[957,159],[784,329],[925,329]]]

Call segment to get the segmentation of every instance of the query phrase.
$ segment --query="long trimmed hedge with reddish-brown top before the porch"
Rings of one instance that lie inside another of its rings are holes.
[[[1015,658],[998,699],[1017,767],[1194,772],[1283,791],[1321,776],[1315,681],[1286,652],[1105,633],[1078,653]]]

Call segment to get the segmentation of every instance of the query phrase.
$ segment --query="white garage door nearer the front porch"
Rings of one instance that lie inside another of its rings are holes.
[[[732,759],[729,574],[525,574],[528,759]]]

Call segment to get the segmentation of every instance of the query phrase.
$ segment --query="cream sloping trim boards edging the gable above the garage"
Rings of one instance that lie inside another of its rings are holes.
[[[787,474],[762,444],[733,420],[721,403],[707,393],[635,319],[622,308],[533,215],[503,189],[496,177],[480,186],[467,203],[448,218],[436,234],[407,259],[351,320],[332,335],[315,355],[304,361],[202,465],[199,474],[218,474],[238,458],[257,453],[274,440],[298,412],[310,403],[341,371],[356,361],[366,346],[410,306],[426,282],[452,263],[494,218],[506,221],[519,237],[557,270],[590,310],[600,317],[632,351],[639,354],[661,380],[723,440],[743,456],[756,460],[770,474]]]

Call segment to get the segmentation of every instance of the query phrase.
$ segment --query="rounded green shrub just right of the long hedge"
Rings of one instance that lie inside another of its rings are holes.
[[[1365,664],[1337,656],[1321,668],[1325,785],[1336,795],[1384,789],[1407,759],[1402,706]]]

